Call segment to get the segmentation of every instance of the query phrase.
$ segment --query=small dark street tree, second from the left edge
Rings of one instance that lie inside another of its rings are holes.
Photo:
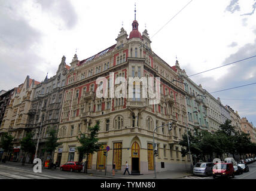
[[[25,152],[25,157],[22,159],[22,165],[25,165],[26,158],[29,154],[35,153],[35,143],[32,138],[33,134],[31,131],[28,131],[26,136],[20,141],[21,149]]]

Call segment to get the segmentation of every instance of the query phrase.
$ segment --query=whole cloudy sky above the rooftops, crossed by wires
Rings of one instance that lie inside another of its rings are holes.
[[[71,63],[76,51],[83,60],[114,45],[122,26],[132,30],[135,2],[154,53],[170,66],[177,57],[187,75],[256,55],[256,0],[0,0],[0,90],[55,75],[62,56]],[[191,79],[209,93],[254,83],[256,57]],[[256,126],[256,84],[212,95]]]

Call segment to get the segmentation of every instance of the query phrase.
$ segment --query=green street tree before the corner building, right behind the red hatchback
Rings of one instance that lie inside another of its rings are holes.
[[[80,157],[80,159],[83,159],[84,155],[86,155],[86,166],[84,168],[84,172],[86,173],[87,173],[89,155],[95,153],[101,147],[101,144],[98,143],[99,138],[97,138],[97,133],[100,130],[99,124],[100,122],[97,121],[94,127],[89,127],[90,133],[87,136],[86,134],[81,134],[80,137],[77,137],[78,142],[81,144],[81,146],[77,147],[78,152],[82,156]]]

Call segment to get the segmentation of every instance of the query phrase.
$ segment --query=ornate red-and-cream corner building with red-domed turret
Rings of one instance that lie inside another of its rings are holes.
[[[75,54],[63,87],[65,95],[58,133],[62,145],[54,153],[54,160],[60,164],[79,161],[77,136],[89,134],[88,127],[100,121],[98,138],[103,149],[89,157],[89,169],[100,171],[107,167],[111,171],[115,161],[116,170],[123,172],[127,161],[129,171],[134,174],[153,173],[154,128],[172,122],[172,131],[164,127],[155,133],[156,170],[190,168],[189,157],[181,156],[178,145],[187,130],[186,93],[184,85],[177,82],[181,81],[178,77],[181,69],[178,61],[170,67],[151,50],[147,30],[141,35],[138,25],[134,20],[129,37],[122,27],[117,44],[95,56],[80,61]],[[96,79],[105,77],[109,80],[110,72],[114,72],[115,78],[123,76],[127,81],[129,77],[160,77],[160,103],[151,105],[149,98],[142,98],[142,83],[140,93],[133,89],[133,98],[97,98]],[[136,98],[135,94],[141,97]],[[103,151],[106,146],[110,150],[105,164]]]

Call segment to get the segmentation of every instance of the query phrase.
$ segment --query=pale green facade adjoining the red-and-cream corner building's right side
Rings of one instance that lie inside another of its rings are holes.
[[[184,76],[185,91],[187,91],[187,116],[188,127],[199,128],[200,130],[209,131],[209,119],[206,105],[205,90],[202,85],[196,85],[190,78],[188,78],[185,70],[182,70]]]

